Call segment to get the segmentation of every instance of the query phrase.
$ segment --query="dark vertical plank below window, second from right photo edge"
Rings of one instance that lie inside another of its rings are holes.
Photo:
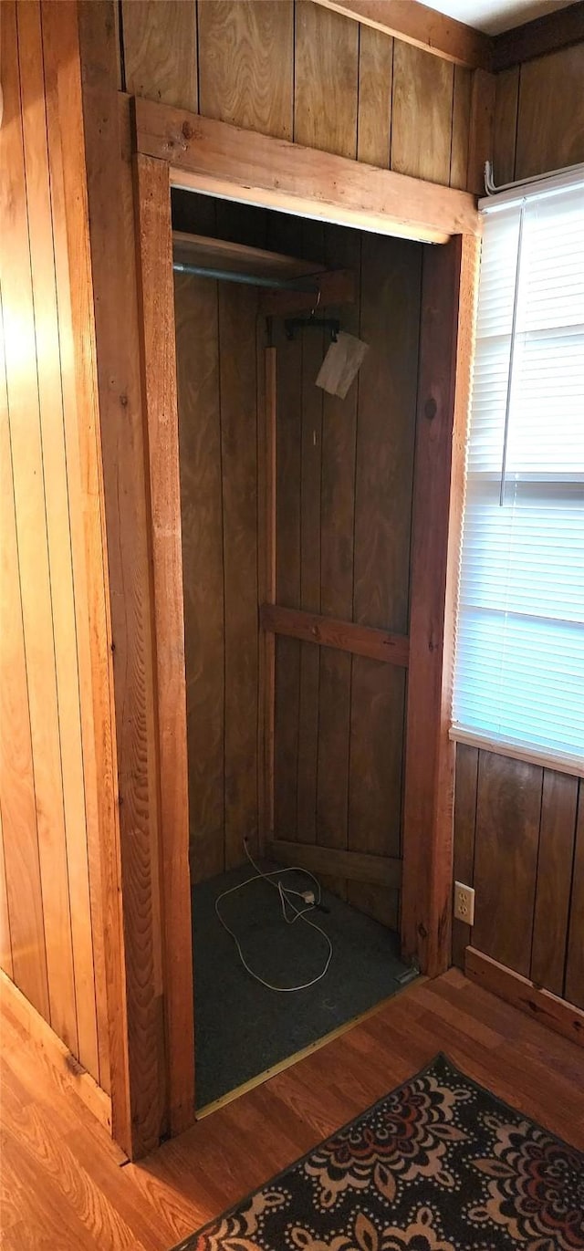
[[[544,769],[530,978],[561,997],[578,778]],[[583,934],[584,942],[584,934]]]

